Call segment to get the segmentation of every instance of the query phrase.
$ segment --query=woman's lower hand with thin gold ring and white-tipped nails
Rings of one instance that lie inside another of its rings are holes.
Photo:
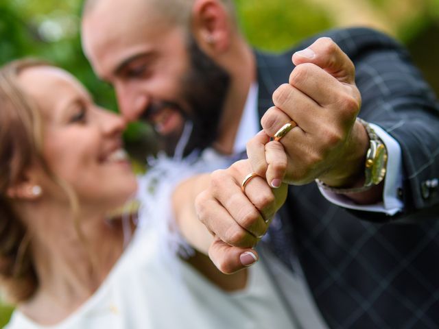
[[[250,172],[252,167],[248,160],[214,171],[209,188],[195,200],[198,218],[215,236],[209,256],[223,273],[233,273],[257,260],[257,252],[252,247],[267,232],[287,196],[285,184],[272,191],[260,177],[252,178],[244,193],[241,182]]]

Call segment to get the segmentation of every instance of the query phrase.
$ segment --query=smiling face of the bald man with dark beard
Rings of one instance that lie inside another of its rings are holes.
[[[186,30],[148,10],[147,1],[128,1],[98,1],[84,17],[82,42],[95,73],[115,87],[123,116],[152,123],[169,153],[187,120],[193,122],[187,151],[209,146],[217,136],[228,73]]]

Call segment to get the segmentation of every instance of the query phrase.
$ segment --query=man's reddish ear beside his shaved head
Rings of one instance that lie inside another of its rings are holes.
[[[206,53],[222,53],[230,47],[233,23],[221,1],[195,0],[191,24],[195,40]]]

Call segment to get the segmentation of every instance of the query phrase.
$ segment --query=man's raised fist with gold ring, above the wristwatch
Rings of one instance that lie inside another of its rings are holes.
[[[261,119],[263,132],[247,145],[253,170],[266,175],[272,186],[316,178],[331,186],[351,186],[361,180],[368,149],[366,130],[355,121],[361,96],[354,65],[330,38],[294,53],[293,62],[289,84],[274,92],[275,106]],[[296,127],[280,141],[269,142],[292,120]],[[285,149],[286,166],[276,163],[268,149],[275,150],[271,154]]]

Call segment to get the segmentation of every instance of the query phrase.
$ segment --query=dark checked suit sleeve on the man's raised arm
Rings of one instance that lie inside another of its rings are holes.
[[[353,212],[375,221],[438,218],[439,106],[433,91],[392,38],[361,28],[325,35],[355,64],[362,97],[359,117],[382,127],[402,151],[403,212],[394,216]]]

